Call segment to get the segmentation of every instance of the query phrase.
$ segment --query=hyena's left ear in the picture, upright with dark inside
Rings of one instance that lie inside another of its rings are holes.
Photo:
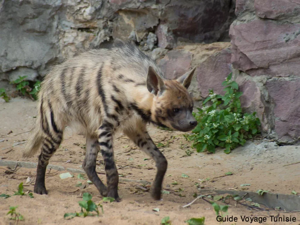
[[[148,91],[154,95],[157,95],[158,92],[162,92],[165,89],[165,84],[163,79],[155,72],[152,66],[148,68],[148,75],[147,75],[147,88]]]

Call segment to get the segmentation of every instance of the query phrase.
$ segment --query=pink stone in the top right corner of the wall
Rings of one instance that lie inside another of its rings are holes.
[[[300,12],[300,1],[255,0],[254,8],[256,15],[261,18],[288,18],[297,15]]]

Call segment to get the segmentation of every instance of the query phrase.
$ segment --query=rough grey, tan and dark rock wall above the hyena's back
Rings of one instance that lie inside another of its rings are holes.
[[[78,49],[115,38],[144,51],[228,39],[235,0],[0,0],[0,80],[45,76]]]

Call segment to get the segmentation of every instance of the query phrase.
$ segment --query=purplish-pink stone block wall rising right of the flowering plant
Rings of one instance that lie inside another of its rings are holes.
[[[230,26],[231,63],[263,130],[282,143],[300,141],[300,2],[237,0]]]

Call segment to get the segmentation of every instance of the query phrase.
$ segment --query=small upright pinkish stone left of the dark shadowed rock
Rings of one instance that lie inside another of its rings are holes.
[[[176,41],[174,35],[169,31],[169,28],[166,24],[160,23],[155,32],[158,38],[158,47],[172,49]]]

